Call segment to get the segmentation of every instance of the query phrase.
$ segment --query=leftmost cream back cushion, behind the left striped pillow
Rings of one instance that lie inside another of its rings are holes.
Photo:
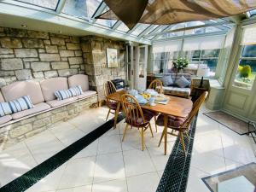
[[[6,102],[13,101],[21,96],[30,96],[32,103],[44,102],[40,84],[36,81],[17,81],[1,88]]]

